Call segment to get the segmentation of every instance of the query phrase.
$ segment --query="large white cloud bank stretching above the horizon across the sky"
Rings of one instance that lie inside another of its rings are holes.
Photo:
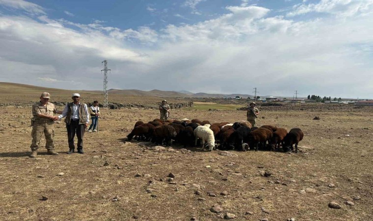
[[[102,88],[101,61],[107,59],[109,88],[372,96],[373,15],[367,11],[292,20],[254,5],[225,10],[162,29],[0,15],[0,66],[9,73],[0,80]]]

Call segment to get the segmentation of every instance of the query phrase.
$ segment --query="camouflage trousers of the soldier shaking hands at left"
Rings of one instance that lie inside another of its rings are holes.
[[[51,149],[54,148],[53,137],[54,137],[54,130],[53,130],[54,121],[34,121],[32,126],[32,142],[31,142],[31,150],[37,150],[39,148],[40,139],[43,134],[45,135],[46,144],[45,148]]]

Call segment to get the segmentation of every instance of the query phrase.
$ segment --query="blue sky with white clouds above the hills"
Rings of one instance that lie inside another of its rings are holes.
[[[0,82],[373,98],[373,0],[0,0]]]

